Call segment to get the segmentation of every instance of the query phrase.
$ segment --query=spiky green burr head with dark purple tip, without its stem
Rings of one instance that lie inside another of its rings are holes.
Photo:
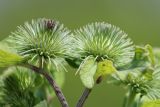
[[[8,41],[20,55],[29,56],[31,61],[54,62],[52,59],[68,55],[69,33],[58,21],[40,18],[18,26]]]

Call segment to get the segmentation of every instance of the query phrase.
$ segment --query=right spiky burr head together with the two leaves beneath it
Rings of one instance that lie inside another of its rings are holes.
[[[82,58],[78,69],[82,83],[93,88],[104,77],[131,62],[134,45],[127,34],[107,23],[92,23],[76,30],[74,35],[75,57]],[[94,69],[93,69],[94,68]]]

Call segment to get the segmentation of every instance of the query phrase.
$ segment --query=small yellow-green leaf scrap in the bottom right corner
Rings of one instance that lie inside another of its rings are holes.
[[[144,102],[141,107],[160,107],[160,100]]]

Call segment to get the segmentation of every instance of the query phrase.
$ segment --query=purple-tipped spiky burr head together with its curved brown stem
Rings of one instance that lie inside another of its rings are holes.
[[[63,107],[68,107],[68,103],[61,89],[49,75],[49,69],[53,66],[56,71],[60,71],[62,68],[66,70],[63,59],[68,55],[70,48],[68,45],[70,43],[69,33],[70,31],[58,21],[42,18],[32,20],[31,23],[26,22],[24,26],[18,26],[18,29],[12,32],[6,40],[19,55],[14,59],[16,63],[13,64],[29,68],[44,76],[53,87]],[[13,58],[15,56],[12,55]],[[7,61],[4,60],[7,56],[1,55],[1,57],[1,61],[5,61],[5,63],[13,62],[13,58]],[[19,57],[21,60],[27,60],[25,62],[20,60],[21,63],[18,63]]]

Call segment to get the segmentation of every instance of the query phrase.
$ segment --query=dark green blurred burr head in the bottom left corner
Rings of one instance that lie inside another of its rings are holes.
[[[0,105],[10,107],[33,107],[38,98],[34,90],[39,85],[35,83],[36,76],[24,68],[12,68],[13,73],[3,78],[1,84]],[[40,80],[41,81],[41,80]]]

